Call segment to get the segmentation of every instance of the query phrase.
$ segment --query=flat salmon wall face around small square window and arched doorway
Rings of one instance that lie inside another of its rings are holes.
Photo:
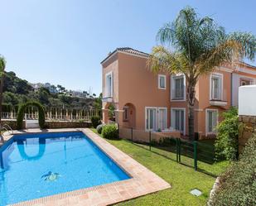
[[[158,89],[158,74],[149,71],[147,59],[133,55],[118,54],[119,102],[123,110],[132,103],[136,110],[135,125],[145,129],[145,107],[167,108],[167,127],[170,127],[170,82],[167,75],[167,88]],[[119,124],[123,124],[123,114],[119,113]]]

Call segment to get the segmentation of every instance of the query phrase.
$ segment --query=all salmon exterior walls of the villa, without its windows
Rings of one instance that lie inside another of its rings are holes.
[[[186,109],[186,135],[188,135],[188,107],[184,100],[171,100],[171,76],[166,75],[166,89],[158,89],[158,74],[149,71],[147,58],[117,52],[103,64],[103,89],[105,74],[114,72],[114,99],[116,108],[116,121],[121,127],[133,127],[138,130],[145,130],[145,108],[167,108],[167,127],[171,126],[171,108]],[[216,68],[213,74],[222,75],[223,98],[220,105],[210,101],[210,75],[201,76],[196,84],[195,103],[195,132],[200,138],[215,137],[206,133],[206,111],[215,109],[218,111],[218,121],[221,121],[221,113],[231,105],[237,105],[239,78],[253,78],[256,84],[256,69],[253,66],[237,64],[235,67],[224,65]],[[164,73],[159,73],[164,74]],[[103,103],[103,108],[107,108],[109,103]],[[133,119],[131,122],[123,121],[123,108],[129,106],[128,116]],[[104,120],[108,116],[105,110]],[[105,122],[105,121],[104,121]]]

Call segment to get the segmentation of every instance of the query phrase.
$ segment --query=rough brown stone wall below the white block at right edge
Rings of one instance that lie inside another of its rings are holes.
[[[249,137],[256,134],[256,116],[239,115],[239,122],[242,123],[239,133],[239,152],[241,152]]]

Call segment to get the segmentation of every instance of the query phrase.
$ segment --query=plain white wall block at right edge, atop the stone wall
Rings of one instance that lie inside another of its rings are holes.
[[[256,116],[256,85],[239,87],[239,115]]]

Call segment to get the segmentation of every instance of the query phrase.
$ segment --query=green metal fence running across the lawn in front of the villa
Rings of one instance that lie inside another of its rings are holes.
[[[128,133],[130,135],[128,140],[132,141],[133,144],[209,175],[220,175],[227,166],[227,164],[220,165],[220,163],[216,162],[213,142],[188,141],[173,137],[164,137],[159,141],[155,141],[154,135],[156,132],[147,132],[147,138],[144,135],[143,139],[140,139],[133,128],[130,128]],[[216,163],[219,164],[218,170],[211,166]]]

